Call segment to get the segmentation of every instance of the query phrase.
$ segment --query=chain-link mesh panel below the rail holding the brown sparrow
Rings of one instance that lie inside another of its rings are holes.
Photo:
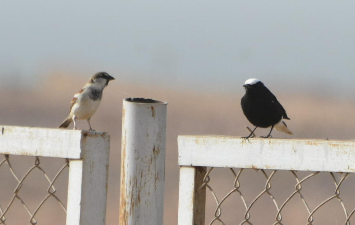
[[[20,158],[18,159],[18,157]],[[23,157],[26,158],[26,162],[23,161]],[[17,160],[20,162],[16,163]],[[54,183],[63,178],[67,181],[69,160],[46,158],[45,161],[47,160],[49,160],[47,162],[48,168],[45,169],[45,165],[41,164],[39,157],[0,155],[0,182],[2,183],[0,188],[2,193],[0,195],[0,225],[20,224],[18,220],[24,218],[23,210],[20,209],[21,205],[22,209],[28,214],[27,219],[24,219],[28,224],[37,224],[38,219],[36,218],[44,217],[47,217],[52,225],[56,222],[65,224],[65,216],[60,221],[58,219],[52,221],[53,218],[51,220],[50,217],[53,214],[58,214],[59,208],[66,215],[66,206],[60,200],[60,197],[66,199],[67,186],[63,185],[61,181],[58,182],[56,185],[60,186],[60,189],[65,189],[64,194],[58,194]],[[53,160],[56,160],[56,162],[53,162]],[[16,166],[14,166],[15,164]],[[54,168],[54,165],[58,164],[59,168]],[[52,179],[49,178],[49,173],[54,175]],[[54,201],[51,199],[54,199]],[[54,207],[54,204],[59,205],[59,207]],[[41,211],[44,211],[42,213],[44,215],[39,215]],[[8,218],[11,218],[11,222],[10,220],[8,222]],[[41,221],[39,224],[45,223]]]

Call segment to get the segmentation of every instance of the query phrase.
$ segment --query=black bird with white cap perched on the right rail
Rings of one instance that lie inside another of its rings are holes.
[[[248,79],[243,87],[246,93],[242,97],[240,104],[246,118],[255,126],[249,136],[244,138],[250,138],[257,127],[271,127],[269,134],[261,138],[271,137],[273,128],[286,134],[293,134],[283,121],[283,119],[290,119],[284,107],[260,80]]]

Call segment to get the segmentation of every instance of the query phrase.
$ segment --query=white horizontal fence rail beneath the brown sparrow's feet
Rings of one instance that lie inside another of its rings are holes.
[[[0,125],[0,154],[80,159],[86,133],[90,132]]]

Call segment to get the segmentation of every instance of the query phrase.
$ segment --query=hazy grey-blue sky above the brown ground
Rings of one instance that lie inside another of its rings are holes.
[[[354,12],[328,0],[3,0],[0,85],[104,70],[142,84],[223,91],[256,77],[351,95]]]

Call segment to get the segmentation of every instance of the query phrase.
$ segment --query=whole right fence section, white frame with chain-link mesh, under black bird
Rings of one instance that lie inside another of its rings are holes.
[[[225,222],[228,218],[223,214],[226,211],[232,211],[234,216],[229,220],[233,221],[230,224],[349,225],[351,220],[355,221],[355,217],[352,218],[355,181],[351,180],[354,176],[349,176],[355,171],[354,141],[179,136],[178,146],[179,225],[202,225],[205,218],[208,218],[206,224],[228,224]],[[213,187],[211,174],[218,167],[226,167],[224,170],[229,172],[220,173]],[[257,178],[263,180],[260,189],[258,182],[250,179],[256,174],[250,169],[259,171]],[[231,177],[231,188],[219,197],[217,189],[223,188],[221,182],[228,176]],[[248,177],[244,179],[243,176]],[[312,179],[319,183],[328,178],[331,182],[326,185],[310,183]],[[244,183],[248,183],[248,179],[253,182],[246,186]],[[293,189],[288,190],[286,186]],[[306,187],[315,192],[305,194]],[[258,189],[256,194],[246,197],[253,189]],[[331,189],[328,197],[323,196],[325,189]],[[341,194],[341,190],[346,194]],[[205,215],[208,208],[206,194],[215,201],[212,216]],[[231,196],[233,200],[229,200]],[[264,196],[270,198],[263,200]],[[240,205],[223,209],[228,201],[233,204],[240,201]],[[269,201],[272,207],[264,203],[258,205],[262,201]],[[331,202],[336,206],[329,208]],[[342,217],[333,220],[331,216],[337,210]],[[241,217],[237,218],[237,214]],[[261,219],[262,216],[268,219]],[[288,218],[291,216],[294,217]],[[328,217],[331,219],[324,219]]]

